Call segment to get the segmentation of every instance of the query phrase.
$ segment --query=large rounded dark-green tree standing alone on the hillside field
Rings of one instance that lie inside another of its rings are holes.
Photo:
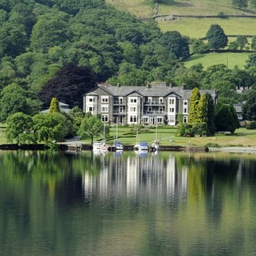
[[[210,49],[219,50],[228,45],[228,37],[218,24],[212,24],[206,33]]]

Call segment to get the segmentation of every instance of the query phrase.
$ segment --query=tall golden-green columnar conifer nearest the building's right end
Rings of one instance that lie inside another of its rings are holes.
[[[191,97],[189,102],[189,116],[188,123],[195,124],[198,122],[198,103],[200,100],[200,92],[198,88],[194,88],[191,91]]]

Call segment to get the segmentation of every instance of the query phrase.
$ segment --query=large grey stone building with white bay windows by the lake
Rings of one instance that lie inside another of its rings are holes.
[[[217,100],[213,90],[200,90]],[[166,83],[147,86],[113,86],[99,84],[83,95],[83,112],[100,113],[102,121],[118,124],[176,125],[178,115],[188,121],[191,90]]]

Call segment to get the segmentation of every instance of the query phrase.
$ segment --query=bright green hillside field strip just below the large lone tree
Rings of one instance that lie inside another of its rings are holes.
[[[202,63],[206,69],[210,65],[228,64],[228,69],[233,69],[238,65],[239,69],[244,69],[248,53],[210,53],[210,54],[195,54],[184,61],[184,65],[190,68],[192,65]]]

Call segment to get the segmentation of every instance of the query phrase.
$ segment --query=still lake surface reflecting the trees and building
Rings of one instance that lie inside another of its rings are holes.
[[[0,151],[0,255],[256,255],[256,155]]]

